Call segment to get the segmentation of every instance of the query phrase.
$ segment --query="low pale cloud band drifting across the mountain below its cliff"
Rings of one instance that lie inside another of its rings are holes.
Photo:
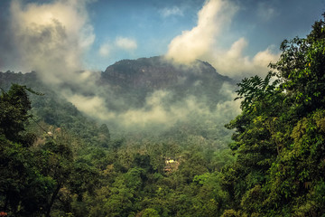
[[[113,111],[105,109],[106,103],[125,104],[124,99],[100,98],[85,99],[84,97],[73,96],[71,101],[78,108],[91,113],[97,111],[97,118],[106,121],[109,126],[127,131],[151,131],[152,128],[166,130],[177,123],[187,121],[209,122],[205,127],[223,127],[228,121],[240,113],[240,101],[236,98],[234,87],[224,83],[216,96],[221,96],[220,101],[213,108],[209,106],[209,99],[199,99],[197,96],[190,95],[183,99],[170,102],[174,94],[171,90],[155,90],[145,99],[144,106],[141,108],[129,108],[126,111]],[[92,102],[88,104],[87,102]],[[159,132],[155,132],[159,133]]]

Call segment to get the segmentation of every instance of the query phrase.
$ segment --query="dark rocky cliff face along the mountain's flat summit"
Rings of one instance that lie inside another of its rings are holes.
[[[231,81],[204,61],[190,66],[175,65],[163,57],[117,61],[102,73],[102,79],[113,85],[135,89],[165,89],[183,85],[198,85],[198,82],[216,81],[217,84]],[[206,84],[206,83],[205,83]]]

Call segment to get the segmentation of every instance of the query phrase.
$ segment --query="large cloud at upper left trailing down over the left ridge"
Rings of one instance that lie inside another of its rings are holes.
[[[95,40],[87,0],[11,4],[14,50],[23,71],[36,71],[42,81],[90,116],[106,112],[96,81],[100,73],[80,71],[83,55]],[[89,97],[92,96],[92,97]]]

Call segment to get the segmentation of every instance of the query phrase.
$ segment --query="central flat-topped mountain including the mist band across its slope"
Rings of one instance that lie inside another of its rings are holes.
[[[224,125],[239,112],[235,81],[205,61],[174,64],[162,56],[117,61],[101,73],[98,89],[115,134],[177,137],[181,143],[200,137],[225,146],[231,132]]]

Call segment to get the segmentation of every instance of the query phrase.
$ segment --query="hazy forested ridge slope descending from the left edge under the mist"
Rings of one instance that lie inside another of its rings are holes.
[[[98,125],[96,121],[81,113],[79,109],[60,96],[59,93],[44,85],[36,72],[14,73],[0,71],[0,88],[9,90],[12,83],[25,85],[27,88],[43,94],[43,96],[29,94],[33,116],[30,127],[37,129],[38,134],[42,135],[44,133],[43,129],[52,131],[56,127],[62,127],[75,137],[79,137],[86,145],[107,146],[110,137],[109,132],[107,130],[104,135],[103,130],[101,130],[107,127]],[[103,138],[103,135],[105,139],[99,139],[99,136]]]

